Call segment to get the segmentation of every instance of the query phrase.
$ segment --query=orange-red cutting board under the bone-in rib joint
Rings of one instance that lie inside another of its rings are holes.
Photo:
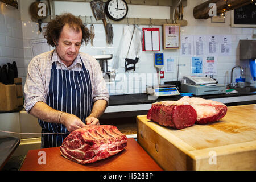
[[[46,154],[46,164],[42,162],[42,153]],[[40,159],[39,159],[40,158]],[[163,170],[147,154],[146,151],[133,139],[129,138],[127,147],[111,156],[110,158],[98,160],[92,164],[79,164],[64,158],[60,154],[60,147],[30,150],[20,168],[21,171],[158,171]]]

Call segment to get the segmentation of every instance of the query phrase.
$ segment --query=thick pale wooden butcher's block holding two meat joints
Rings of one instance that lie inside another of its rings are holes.
[[[137,141],[165,170],[256,170],[256,104],[176,130],[137,116]]]

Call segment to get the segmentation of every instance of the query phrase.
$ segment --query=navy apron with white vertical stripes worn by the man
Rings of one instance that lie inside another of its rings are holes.
[[[81,57],[80,57],[81,59]],[[81,59],[82,61],[82,59]],[[74,114],[85,123],[93,106],[92,86],[89,71],[82,63],[81,71],[61,70],[52,63],[51,80],[46,104],[53,109]],[[38,119],[42,133],[67,133],[67,128],[58,123]],[[68,134],[42,134],[41,148],[61,146]]]

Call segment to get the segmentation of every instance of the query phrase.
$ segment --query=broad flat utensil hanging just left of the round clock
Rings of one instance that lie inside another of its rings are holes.
[[[90,2],[90,6],[92,7],[93,14],[95,16],[96,20],[102,19],[105,32],[107,34],[107,28],[106,28],[106,19],[105,19],[105,12],[104,12],[104,2],[101,0],[93,0]]]

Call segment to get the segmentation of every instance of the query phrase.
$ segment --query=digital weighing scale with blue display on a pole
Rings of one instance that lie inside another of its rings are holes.
[[[154,66],[158,70],[158,85],[147,85],[147,94],[151,96],[174,96],[179,95],[175,85],[160,85],[160,70],[164,66],[163,53],[154,53]]]

